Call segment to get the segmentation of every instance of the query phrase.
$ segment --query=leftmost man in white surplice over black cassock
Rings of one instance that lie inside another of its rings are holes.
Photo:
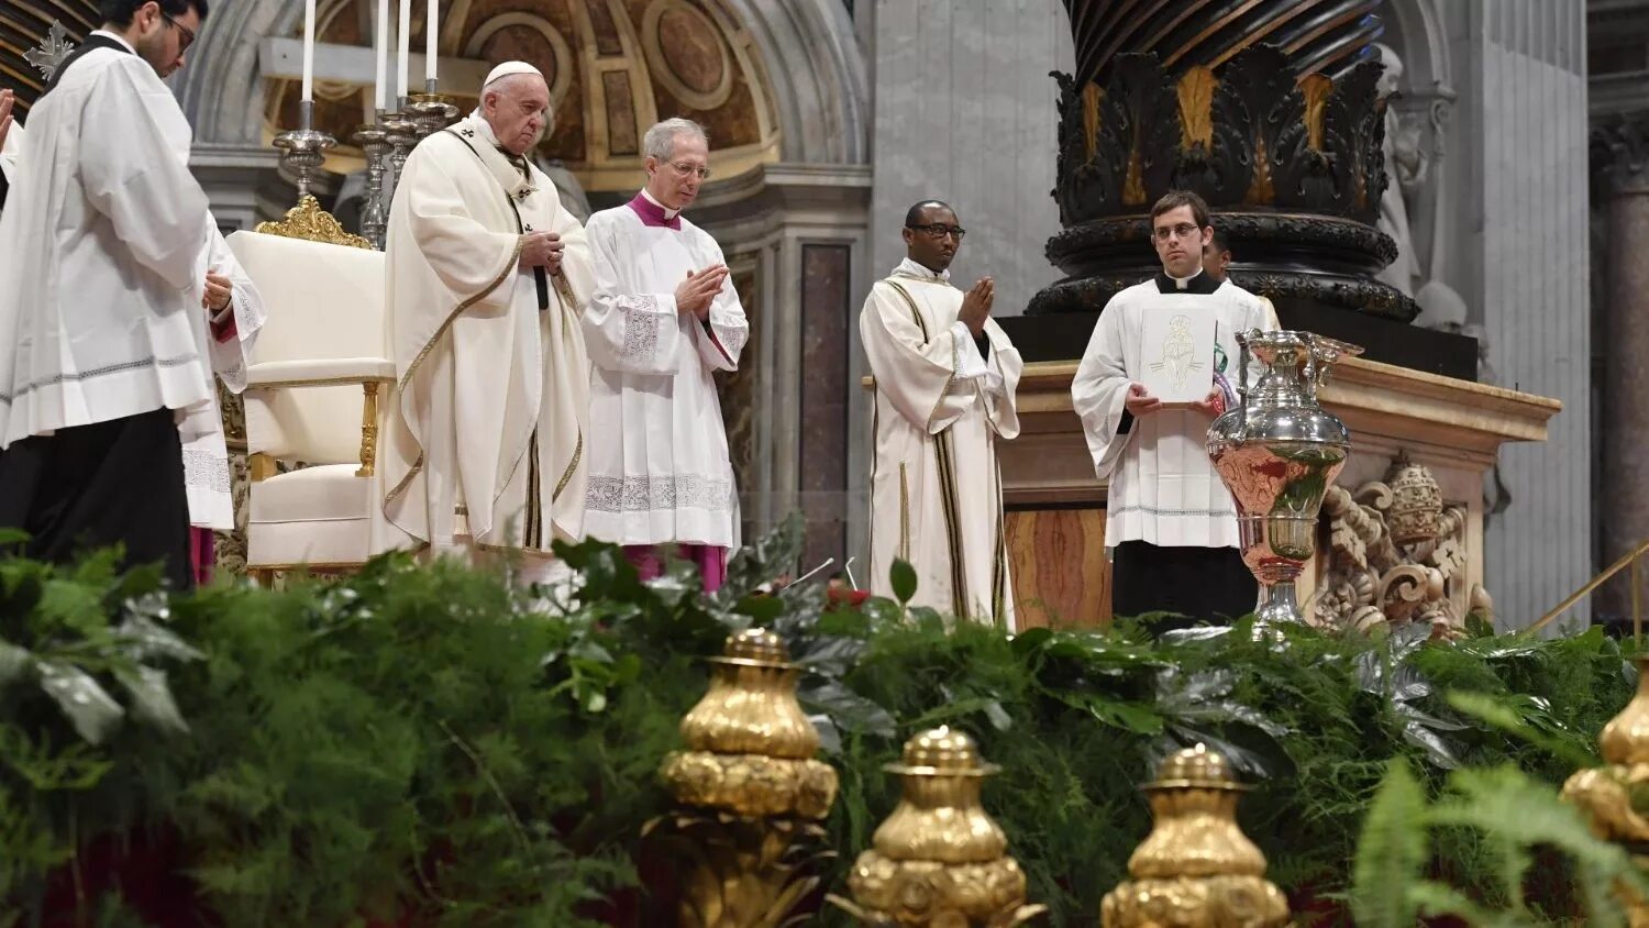
[[[183,443],[208,405],[213,221],[162,77],[204,0],[106,0],[53,73],[0,214],[0,527],[69,560],[122,544],[193,585]]]

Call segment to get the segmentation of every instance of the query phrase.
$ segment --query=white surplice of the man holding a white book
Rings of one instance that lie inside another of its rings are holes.
[[[1271,330],[1275,321],[1258,297],[1205,274],[1181,288],[1174,279],[1130,287],[1105,305],[1070,384],[1070,399],[1105,493],[1105,546],[1143,541],[1161,547],[1237,547],[1237,508],[1207,453],[1207,414],[1161,409],[1135,419],[1126,412],[1130,384],[1146,363],[1144,316],[1177,307],[1212,308],[1214,364],[1237,382],[1237,333]],[[1258,366],[1250,366],[1250,382]]]

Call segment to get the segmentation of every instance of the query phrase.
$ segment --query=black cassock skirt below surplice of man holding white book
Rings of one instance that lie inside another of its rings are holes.
[[[1125,541],[1111,557],[1111,615],[1166,612],[1179,618],[1153,623],[1156,631],[1197,621],[1225,625],[1253,612],[1260,582],[1235,547],[1158,547]]]

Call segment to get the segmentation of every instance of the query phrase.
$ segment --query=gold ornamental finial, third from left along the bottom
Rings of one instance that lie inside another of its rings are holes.
[[[1288,900],[1265,879],[1265,855],[1237,826],[1238,783],[1225,755],[1174,752],[1144,785],[1156,819],[1106,893],[1105,928],[1266,928],[1288,921]]]

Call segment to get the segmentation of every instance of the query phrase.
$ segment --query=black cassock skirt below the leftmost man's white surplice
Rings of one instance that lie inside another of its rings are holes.
[[[160,564],[171,588],[193,588],[171,410],[59,429],[0,452],[0,527],[28,532],[21,554],[54,564],[122,544],[124,567]]]

